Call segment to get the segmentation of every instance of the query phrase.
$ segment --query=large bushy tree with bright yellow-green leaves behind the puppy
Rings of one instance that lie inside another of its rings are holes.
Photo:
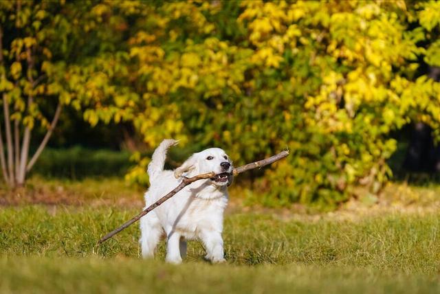
[[[438,64],[438,5],[99,3],[102,40],[118,45],[75,73],[94,93],[85,118],[132,122],[150,148],[170,136],[222,146],[237,164],[288,146],[288,161],[257,183],[266,203],[377,193],[391,177],[393,131],[425,122],[439,135],[440,87],[423,71]],[[148,158],[136,159],[129,178],[146,181]]]

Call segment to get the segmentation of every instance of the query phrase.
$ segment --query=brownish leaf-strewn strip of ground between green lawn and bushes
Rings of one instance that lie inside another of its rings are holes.
[[[29,204],[74,205],[92,207],[121,207],[141,210],[146,187],[127,185],[121,178],[84,179],[65,181],[32,177],[25,188],[0,189],[0,205]],[[256,193],[256,192],[253,192]],[[243,187],[232,185],[228,214],[253,212],[271,214],[281,220],[321,219],[356,220],[365,216],[380,216],[402,212],[423,214],[440,210],[440,185],[413,186],[406,183],[390,183],[381,194],[364,192],[363,196],[341,205],[338,210],[322,212],[298,203],[290,207],[262,207],[248,205]]]

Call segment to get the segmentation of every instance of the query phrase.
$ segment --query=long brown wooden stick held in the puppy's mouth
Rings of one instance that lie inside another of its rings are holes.
[[[284,157],[287,157],[287,155],[289,155],[289,151],[285,150],[285,151],[280,152],[277,155],[274,155],[272,157],[268,157],[268,158],[260,160],[260,161],[255,161],[255,162],[246,164],[245,166],[240,166],[239,168],[234,168],[232,173],[234,175],[237,175],[237,174],[240,174],[241,172],[245,172],[246,170],[252,170],[254,168],[262,168],[263,166],[267,166],[269,164],[274,163],[275,161],[278,161],[280,159],[283,159]],[[109,240],[109,238],[115,236],[115,234],[118,234],[123,229],[126,229],[126,227],[129,227],[129,225],[135,223],[137,220],[140,220],[140,218],[142,218],[142,216],[144,216],[145,214],[148,214],[148,212],[151,212],[151,210],[154,210],[157,206],[161,205],[162,203],[164,203],[165,201],[167,201],[168,199],[173,197],[177,192],[179,192],[180,190],[185,188],[190,183],[193,183],[195,181],[199,181],[201,179],[210,179],[214,176],[215,176],[214,172],[208,172],[207,174],[198,174],[197,176],[191,177],[191,178],[184,177],[183,181],[181,181],[181,183],[176,188],[174,188],[173,191],[169,192],[168,194],[163,196],[161,199],[157,200],[152,205],[146,207],[145,210],[142,210],[142,212],[140,212],[140,214],[137,214],[137,216],[135,216],[134,218],[131,218],[131,220],[124,223],[124,225],[121,225],[120,227],[111,231],[109,234],[102,237],[101,240],[99,240],[98,245],[100,245],[102,242],[104,242],[106,240]]]

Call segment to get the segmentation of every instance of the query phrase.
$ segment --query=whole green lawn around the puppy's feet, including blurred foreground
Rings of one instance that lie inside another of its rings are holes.
[[[440,214],[225,218],[226,264],[190,242],[184,264],[139,258],[133,225],[96,247],[137,210],[0,208],[0,293],[438,293]]]

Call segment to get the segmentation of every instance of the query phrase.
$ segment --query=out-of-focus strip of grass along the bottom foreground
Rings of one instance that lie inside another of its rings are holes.
[[[435,275],[305,264],[5,258],[1,293],[438,293]]]

